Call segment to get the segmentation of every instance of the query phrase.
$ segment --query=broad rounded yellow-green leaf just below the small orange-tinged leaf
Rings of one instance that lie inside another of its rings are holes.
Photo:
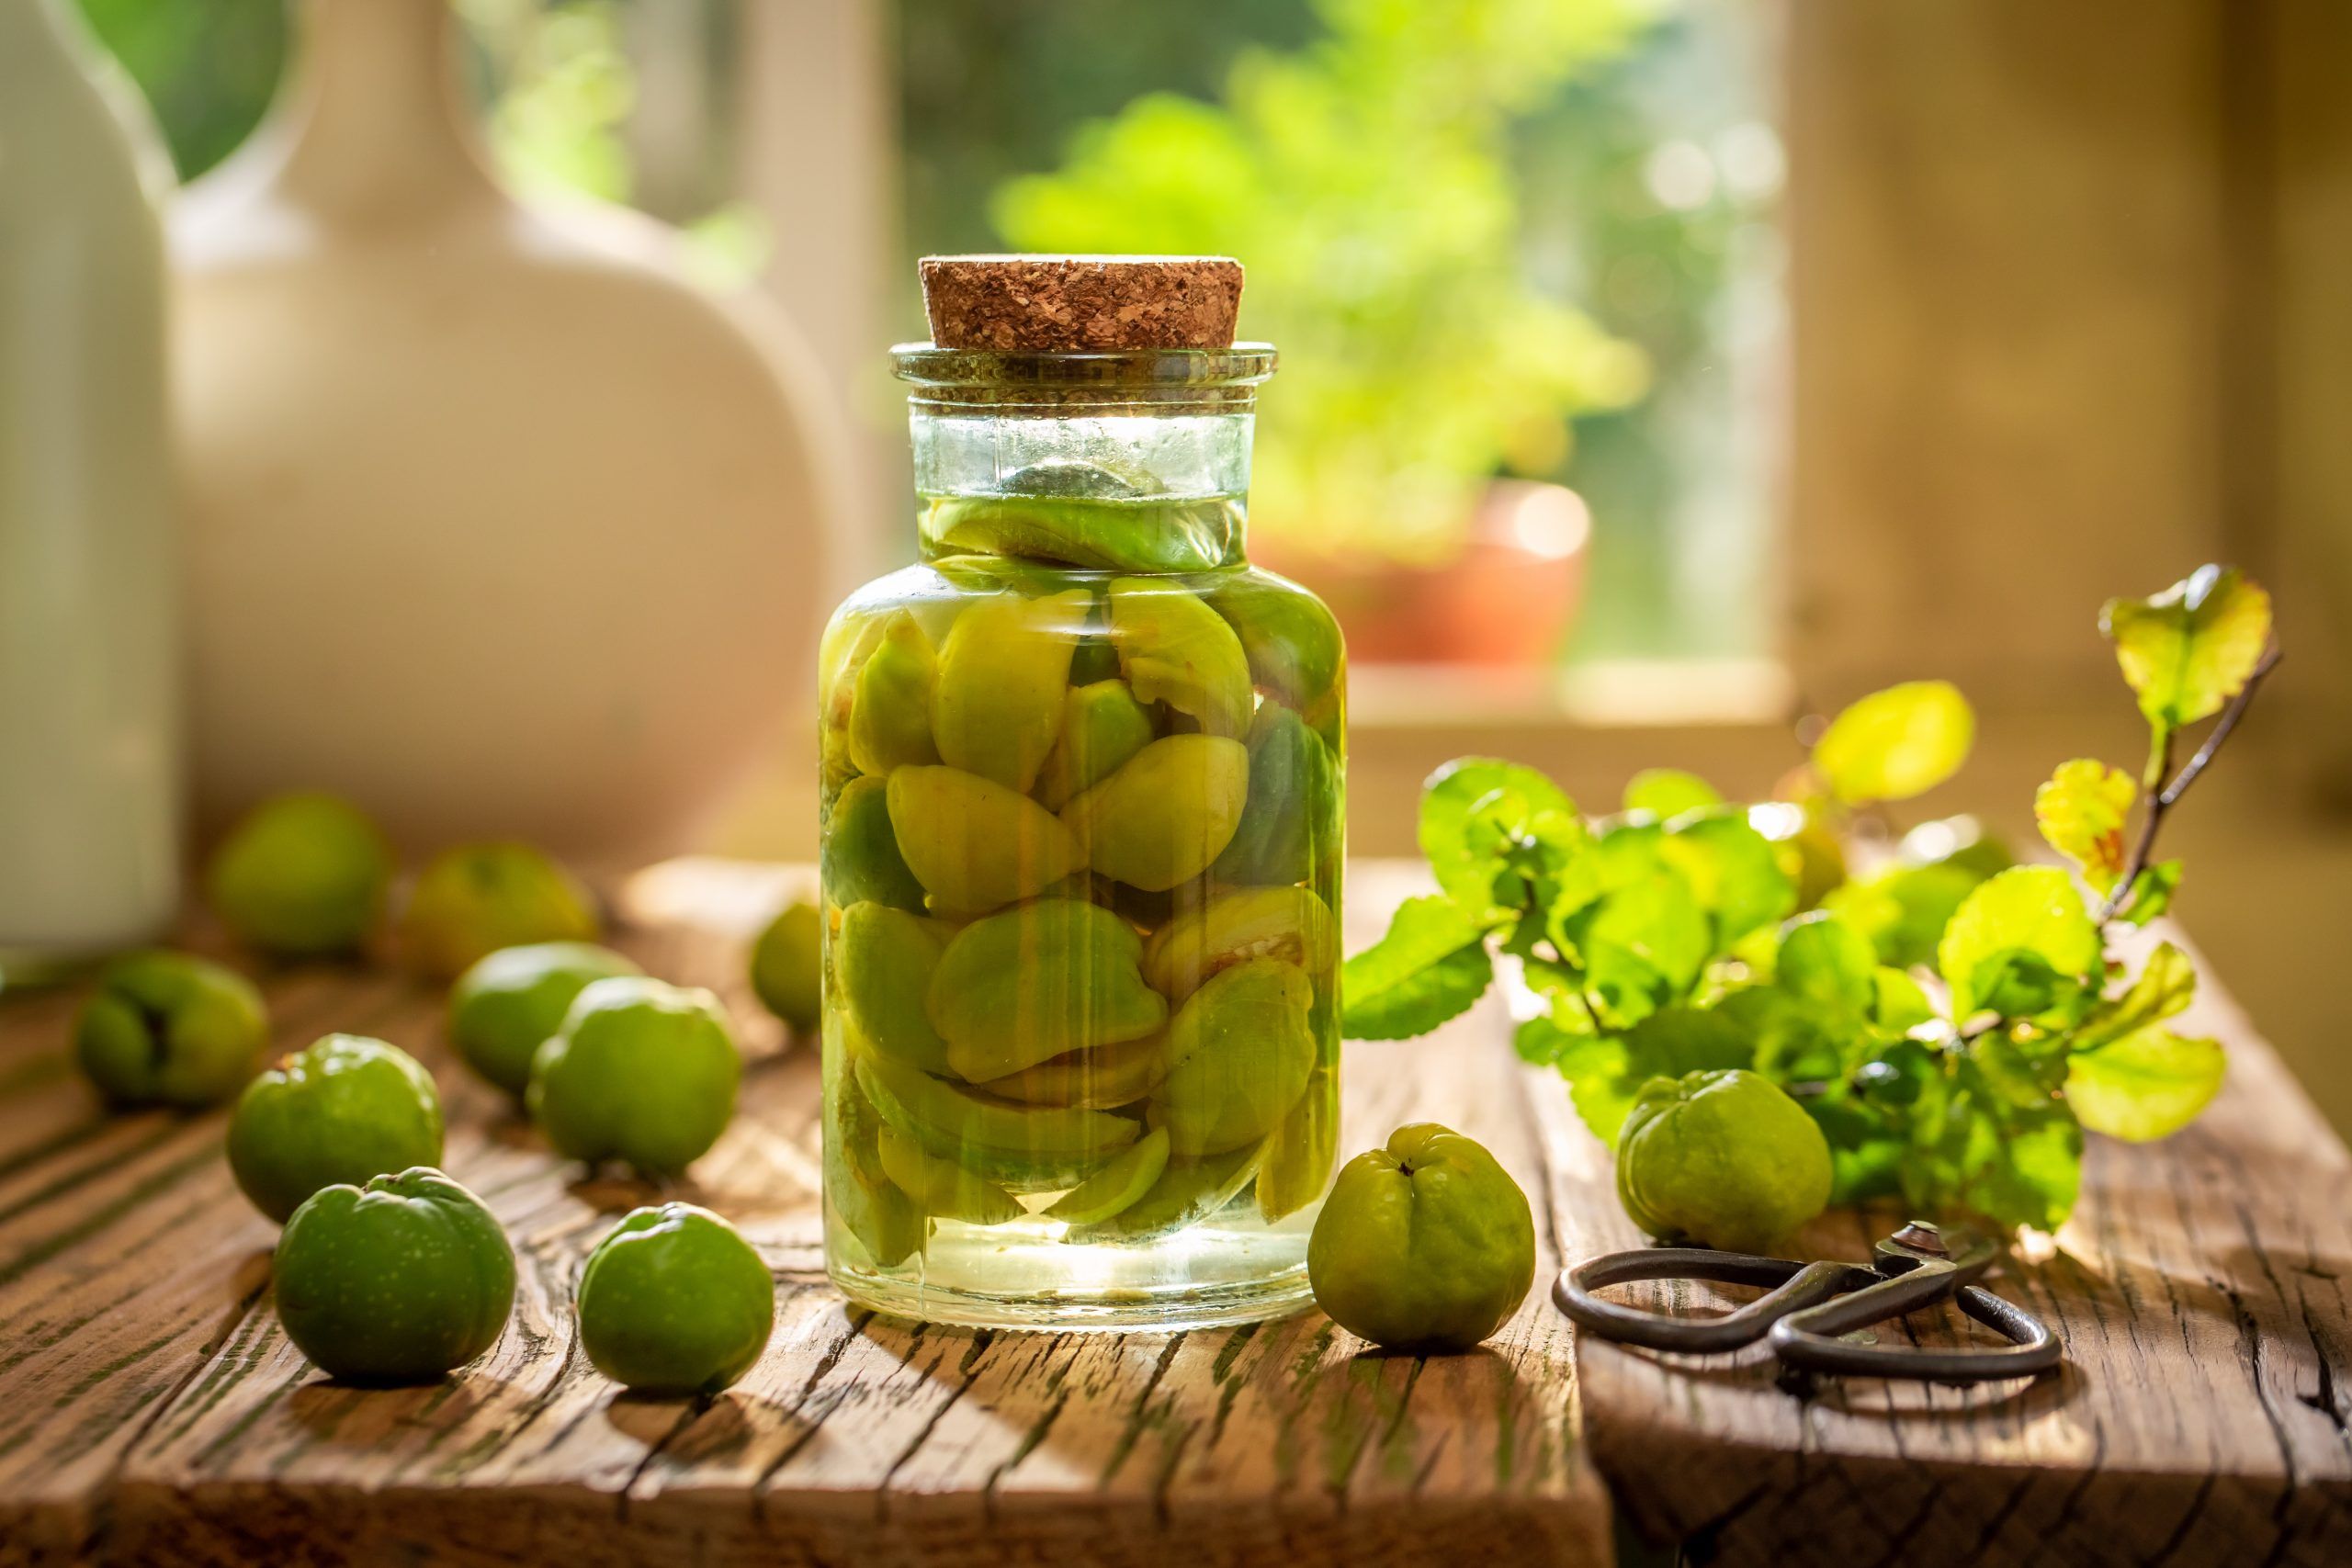
[[[2056,865],[2013,865],[1983,882],[1936,945],[1955,1023],[1987,1006],[2004,1018],[2058,1006],[2065,987],[2089,985],[2100,957],[2098,926],[2074,879]],[[2046,997],[2042,1006],[2032,1004],[2034,994]]]

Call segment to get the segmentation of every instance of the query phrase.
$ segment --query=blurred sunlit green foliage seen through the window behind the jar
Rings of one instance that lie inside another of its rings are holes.
[[[459,0],[501,169],[755,275],[779,214],[734,197],[743,2]],[[82,7],[183,179],[289,52],[282,0]],[[652,59],[680,19],[706,68]],[[1755,26],[1738,0],[898,0],[903,329],[927,252],[1240,254],[1244,329],[1284,350],[1261,529],[1442,557],[1489,477],[1550,477],[1595,517],[1576,651],[1752,651],[1780,183]]]

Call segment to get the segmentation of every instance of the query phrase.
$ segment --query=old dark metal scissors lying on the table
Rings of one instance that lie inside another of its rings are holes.
[[[1912,1220],[1875,1248],[1870,1267],[1853,1262],[1790,1262],[1703,1246],[1649,1246],[1604,1253],[1559,1272],[1552,1302],[1604,1340],[1712,1354],[1771,1340],[1783,1368],[1846,1378],[1919,1378],[1926,1382],[1997,1382],[2032,1378],[2065,1356],[2058,1335],[2023,1307],[1973,1281],[1999,1248],[1990,1239]],[[1602,1300],[1595,1291],[1635,1279],[1710,1279],[1771,1286],[1722,1316],[1689,1319]],[[1844,1335],[1952,1298],[1962,1312],[2009,1345],[1994,1349],[1929,1349],[1924,1345],[1865,1345]]]

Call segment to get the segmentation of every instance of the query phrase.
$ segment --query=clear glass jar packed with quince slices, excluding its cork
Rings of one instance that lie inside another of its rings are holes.
[[[818,672],[828,1272],[948,1324],[1289,1312],[1338,1133],[1345,658],[1242,548],[1275,355],[894,360],[922,562]]]

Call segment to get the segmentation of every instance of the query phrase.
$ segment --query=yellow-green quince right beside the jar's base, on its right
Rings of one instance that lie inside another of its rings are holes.
[[[1536,1220],[1510,1171],[1416,1121],[1341,1166],[1308,1239],[1315,1302],[1385,1349],[1470,1349],[1536,1281]]]

